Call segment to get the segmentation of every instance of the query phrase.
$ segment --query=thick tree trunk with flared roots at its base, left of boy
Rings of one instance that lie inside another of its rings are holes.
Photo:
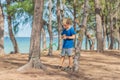
[[[30,42],[30,61],[26,65],[20,67],[18,71],[30,70],[31,68],[42,68],[46,70],[46,67],[40,61],[40,33],[43,26],[43,4],[44,0],[35,0],[34,19]]]

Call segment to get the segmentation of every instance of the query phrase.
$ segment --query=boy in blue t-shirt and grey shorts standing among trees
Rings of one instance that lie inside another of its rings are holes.
[[[61,33],[62,39],[63,39],[63,46],[62,46],[62,52],[61,52],[61,58],[60,58],[60,66],[59,68],[63,68],[63,63],[65,59],[65,55],[69,57],[69,66],[68,69],[72,69],[73,66],[73,54],[72,54],[72,48],[74,47],[74,41],[76,32],[74,31],[74,28],[71,26],[72,21],[69,18],[65,18],[63,20],[63,31]]]

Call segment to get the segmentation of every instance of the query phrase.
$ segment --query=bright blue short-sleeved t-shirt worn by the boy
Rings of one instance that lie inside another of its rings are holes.
[[[73,27],[70,27],[70,29],[66,30],[64,29],[61,35],[66,36],[72,36],[76,34]],[[73,39],[63,39],[63,48],[73,48],[74,47],[74,41]]]

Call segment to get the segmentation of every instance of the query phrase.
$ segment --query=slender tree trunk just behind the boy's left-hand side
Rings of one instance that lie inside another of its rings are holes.
[[[62,25],[60,23],[60,0],[57,0],[57,22],[58,22],[58,50],[62,49],[61,30]]]

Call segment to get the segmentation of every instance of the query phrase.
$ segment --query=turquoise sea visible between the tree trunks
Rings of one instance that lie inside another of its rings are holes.
[[[18,48],[19,48],[19,52],[20,53],[29,53],[29,48],[30,48],[30,37],[16,37],[17,40],[17,44],[18,44]],[[82,42],[82,50],[85,50],[85,43],[86,43],[86,39],[84,38],[83,42]],[[46,38],[46,46],[48,49],[49,48],[49,37]],[[108,43],[107,43],[108,44]],[[95,46],[95,50],[96,50],[96,44]],[[54,37],[53,38],[53,50],[57,50],[58,47],[58,38]],[[106,48],[108,48],[106,46]],[[41,44],[41,49],[42,49],[42,44]],[[89,43],[88,43],[88,50],[90,49]],[[11,43],[11,40],[9,37],[4,37],[4,51],[6,54],[9,54],[10,52],[13,52],[13,45]]]

